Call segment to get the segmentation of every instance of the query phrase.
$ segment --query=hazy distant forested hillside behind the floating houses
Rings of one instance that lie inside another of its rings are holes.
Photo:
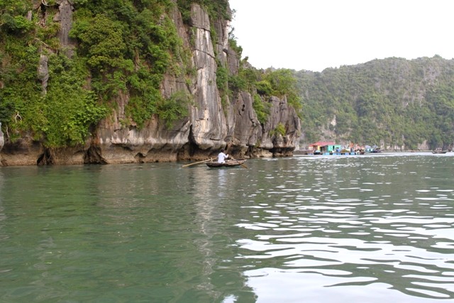
[[[296,72],[303,143],[448,148],[454,142],[454,60],[387,58]]]

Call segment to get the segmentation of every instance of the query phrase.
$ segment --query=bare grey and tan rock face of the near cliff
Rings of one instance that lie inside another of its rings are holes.
[[[59,16],[62,34],[71,26],[67,20],[71,13],[68,11],[68,1],[61,1],[60,6],[63,6],[60,7]],[[140,129],[134,125],[122,126],[129,97],[120,94],[114,113],[99,123],[85,146],[49,150],[23,139],[6,144],[8,148],[0,155],[4,165],[201,160],[216,155],[221,148],[227,148],[228,153],[236,158],[292,155],[299,138],[300,121],[286,99],[272,97],[266,100],[272,106],[270,117],[263,125],[257,119],[253,97],[248,92],[239,92],[231,99],[226,97],[226,102],[221,102],[221,94],[216,86],[216,61],[221,62],[231,73],[238,72],[239,67],[238,56],[228,46],[228,21],[213,21],[218,35],[218,43],[213,43],[211,21],[201,6],[192,5],[191,28],[183,25],[177,9],[172,13],[172,18],[184,45],[191,45],[192,65],[196,74],[191,84],[184,76],[176,78],[167,75],[162,82],[161,92],[164,97],[170,97],[172,92],[185,90],[194,97],[187,119],[175,123],[170,129],[157,116],[153,116]],[[68,43],[65,37],[60,37],[60,41]],[[47,79],[43,73],[38,78],[43,81],[45,89],[44,82]],[[285,127],[284,136],[274,131],[279,124]]]

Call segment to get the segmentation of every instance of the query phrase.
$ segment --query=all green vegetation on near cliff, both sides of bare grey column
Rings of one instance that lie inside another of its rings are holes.
[[[165,77],[185,79],[189,87],[195,76],[192,50],[178,31],[190,30],[191,6],[199,4],[218,45],[218,21],[231,18],[228,0],[70,3],[71,31],[62,38],[66,2],[0,0],[0,122],[7,140],[30,136],[48,148],[83,145],[102,119],[114,115],[123,127],[138,128],[153,116],[167,128],[189,116],[193,100],[186,90],[162,96]],[[172,21],[178,12],[186,28]],[[229,45],[240,58],[233,33]],[[270,114],[271,96],[287,97],[299,109],[289,70],[259,71],[245,67],[245,59],[236,74],[216,63],[223,105],[233,92],[248,91],[261,123]]]

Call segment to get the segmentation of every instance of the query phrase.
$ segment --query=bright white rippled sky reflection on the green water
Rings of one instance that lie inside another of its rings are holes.
[[[260,204],[266,209],[255,208],[255,219],[237,225],[255,231],[253,238],[236,241],[242,249],[238,258],[275,264],[253,263],[257,269],[246,272],[250,285],[263,290],[272,280],[301,276],[297,279],[319,282],[314,287],[387,290],[387,297],[402,302],[454,299],[454,189],[450,182],[426,184],[428,172],[420,177],[413,170],[403,179],[404,163],[362,167],[358,180],[336,180],[340,167],[358,163],[330,166],[319,175],[327,165],[319,162],[319,167],[305,165],[299,182],[275,184],[266,192],[267,203]],[[257,207],[261,199],[258,194],[242,207]]]

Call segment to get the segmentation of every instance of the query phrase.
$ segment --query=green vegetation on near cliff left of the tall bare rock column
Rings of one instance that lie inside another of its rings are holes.
[[[139,127],[153,114],[167,126],[187,116],[190,98],[160,93],[165,73],[186,72],[190,56],[167,14],[172,1],[74,1],[70,58],[57,38],[55,1],[31,2],[0,1],[0,121],[12,141],[30,133],[48,147],[84,143],[120,94]],[[48,73],[40,74],[42,56]]]

